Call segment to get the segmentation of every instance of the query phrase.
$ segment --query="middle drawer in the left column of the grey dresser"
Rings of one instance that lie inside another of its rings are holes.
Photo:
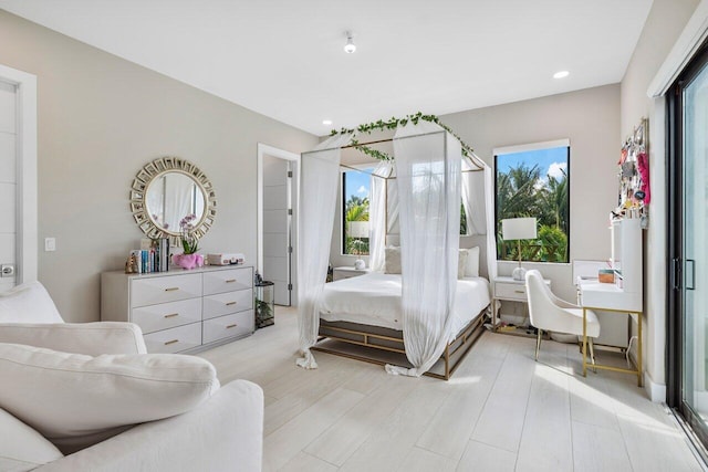
[[[201,298],[180,300],[179,302],[133,308],[131,321],[136,323],[143,329],[143,333],[153,333],[200,322]]]

